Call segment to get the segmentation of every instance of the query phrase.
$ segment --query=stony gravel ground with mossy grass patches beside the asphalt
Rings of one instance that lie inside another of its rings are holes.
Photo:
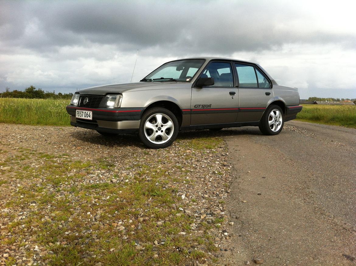
[[[212,265],[230,249],[221,133],[171,147],[0,124],[0,265]]]

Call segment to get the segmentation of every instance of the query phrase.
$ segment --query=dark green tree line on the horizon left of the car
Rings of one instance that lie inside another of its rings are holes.
[[[72,99],[73,93],[55,93],[45,92],[42,89],[36,89],[32,85],[25,89],[21,90],[12,90],[10,92],[9,88],[6,88],[5,92],[0,93],[0,98],[27,98],[27,99]]]

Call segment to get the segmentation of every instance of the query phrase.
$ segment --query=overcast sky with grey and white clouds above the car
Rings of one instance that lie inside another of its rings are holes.
[[[300,98],[356,98],[352,1],[0,1],[0,92],[137,82],[166,61],[252,61]]]

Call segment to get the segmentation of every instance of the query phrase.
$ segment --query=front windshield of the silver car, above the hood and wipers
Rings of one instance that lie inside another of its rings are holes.
[[[190,82],[198,69],[203,65],[204,59],[187,59],[166,63],[157,68],[142,82]]]

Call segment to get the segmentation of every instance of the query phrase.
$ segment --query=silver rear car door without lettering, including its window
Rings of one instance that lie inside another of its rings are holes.
[[[237,122],[260,121],[268,102],[274,98],[271,82],[254,65],[235,63],[239,80]]]

